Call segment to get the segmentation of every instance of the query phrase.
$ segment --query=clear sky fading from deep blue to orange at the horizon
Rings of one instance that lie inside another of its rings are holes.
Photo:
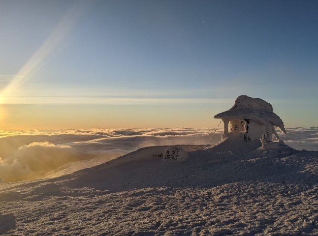
[[[1,0],[0,129],[318,126],[318,1]]]

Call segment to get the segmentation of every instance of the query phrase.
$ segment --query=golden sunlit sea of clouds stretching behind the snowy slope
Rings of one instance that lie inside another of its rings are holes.
[[[138,148],[210,145],[222,129],[89,129],[0,132],[0,178],[4,182],[54,177],[98,165]],[[290,128],[281,135],[295,149],[318,150],[318,127]]]

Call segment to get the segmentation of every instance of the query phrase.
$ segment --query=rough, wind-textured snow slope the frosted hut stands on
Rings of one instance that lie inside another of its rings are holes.
[[[318,235],[318,152],[224,139],[141,148],[70,175],[0,184],[5,235]],[[171,147],[170,147],[171,148]]]

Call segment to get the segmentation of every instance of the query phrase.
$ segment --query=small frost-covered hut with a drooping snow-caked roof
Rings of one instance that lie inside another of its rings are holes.
[[[286,134],[283,120],[273,112],[271,104],[260,98],[241,95],[236,98],[232,108],[214,118],[220,118],[224,122],[222,139],[233,132],[244,133],[246,141],[255,139],[273,141],[274,137],[279,140],[275,127]]]

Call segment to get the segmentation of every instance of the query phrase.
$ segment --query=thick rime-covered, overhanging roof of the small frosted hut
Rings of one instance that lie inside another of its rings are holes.
[[[246,95],[241,95],[236,98],[234,106],[228,111],[215,115],[214,118],[220,119],[251,119],[262,124],[271,123],[279,127],[286,134],[283,120],[273,112],[273,107],[270,103],[260,98],[252,98]]]

